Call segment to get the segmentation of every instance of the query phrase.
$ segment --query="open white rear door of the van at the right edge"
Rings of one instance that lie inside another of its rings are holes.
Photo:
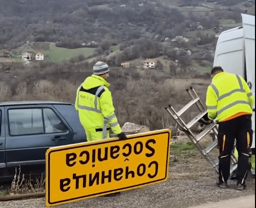
[[[246,61],[246,79],[251,85],[252,94],[255,95],[255,17],[242,14],[244,29],[244,46]],[[255,108],[255,106],[254,106]],[[252,116],[253,143],[255,149],[255,113]]]

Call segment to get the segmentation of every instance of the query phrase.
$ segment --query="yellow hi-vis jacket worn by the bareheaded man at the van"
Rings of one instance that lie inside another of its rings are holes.
[[[211,120],[222,122],[239,114],[252,114],[253,105],[254,95],[241,76],[219,73],[207,89],[206,106]]]

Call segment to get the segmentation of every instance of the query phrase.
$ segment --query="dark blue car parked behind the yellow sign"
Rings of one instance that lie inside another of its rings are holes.
[[[86,133],[71,103],[0,102],[0,182],[21,174],[45,173],[50,147],[86,142]]]

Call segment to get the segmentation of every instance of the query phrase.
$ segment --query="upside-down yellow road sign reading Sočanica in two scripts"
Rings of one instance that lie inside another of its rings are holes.
[[[170,130],[133,134],[46,152],[46,205],[102,196],[166,181]]]

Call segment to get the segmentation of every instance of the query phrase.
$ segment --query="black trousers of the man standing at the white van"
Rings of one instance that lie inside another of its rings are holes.
[[[252,143],[251,116],[245,115],[219,123],[219,180],[227,182],[230,176],[230,159],[235,138],[238,151],[238,182],[247,178],[249,147]]]

